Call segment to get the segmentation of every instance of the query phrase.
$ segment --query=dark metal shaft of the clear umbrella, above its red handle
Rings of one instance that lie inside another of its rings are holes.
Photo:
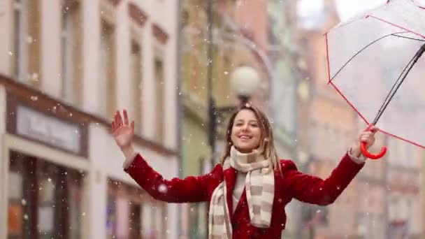
[[[389,94],[387,95],[387,98],[385,99],[385,101],[382,104],[382,106],[380,107],[380,110],[378,111],[375,119],[373,120],[373,124],[376,124],[377,121],[380,119],[380,117],[384,113],[384,110],[389,105],[389,102],[391,101],[391,99],[393,99],[394,95],[396,94],[398,88],[400,88],[401,84],[403,84],[405,78],[408,76],[408,73],[410,72],[410,70],[412,70],[413,66],[415,66],[417,60],[420,57],[422,57],[422,55],[424,54],[424,52],[425,52],[425,44],[422,45],[421,48],[416,52],[415,56],[412,57],[412,59],[410,59],[408,65],[405,66],[405,68],[403,69],[403,71],[401,72],[401,74],[398,76],[398,79],[394,83],[394,85],[391,88]],[[407,70],[407,72],[406,72],[406,70]],[[400,78],[402,78],[402,79],[400,80]]]

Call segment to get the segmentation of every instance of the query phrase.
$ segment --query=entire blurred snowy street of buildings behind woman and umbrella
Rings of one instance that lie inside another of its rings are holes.
[[[232,110],[273,123],[281,158],[327,177],[364,128],[326,85],[324,33],[378,0],[1,0],[0,238],[207,238],[206,203],[154,201],[122,170],[116,110],[165,178],[208,173]],[[326,208],[283,238],[425,238],[424,151],[382,136]]]

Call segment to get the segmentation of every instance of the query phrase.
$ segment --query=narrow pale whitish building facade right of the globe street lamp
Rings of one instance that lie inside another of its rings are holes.
[[[299,121],[302,108],[298,108],[302,87],[301,68],[297,65],[297,1],[268,2],[268,52],[273,64],[271,82],[271,114],[275,147],[282,159],[291,159],[303,171],[303,153],[299,147]],[[285,208],[287,224],[282,238],[301,238],[302,203],[291,201]]]

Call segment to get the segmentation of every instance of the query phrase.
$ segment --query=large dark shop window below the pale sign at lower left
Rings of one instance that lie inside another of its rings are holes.
[[[8,238],[80,238],[82,174],[11,153]]]

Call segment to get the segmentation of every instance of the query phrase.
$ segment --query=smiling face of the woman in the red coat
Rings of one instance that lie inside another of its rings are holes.
[[[240,110],[231,129],[231,141],[239,152],[252,152],[259,147],[261,129],[251,110]]]

